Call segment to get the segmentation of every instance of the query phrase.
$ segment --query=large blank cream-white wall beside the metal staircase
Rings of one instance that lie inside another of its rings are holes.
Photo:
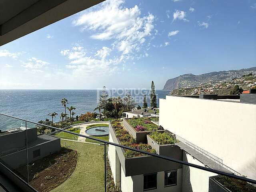
[[[159,124],[256,179],[256,105],[166,96]]]

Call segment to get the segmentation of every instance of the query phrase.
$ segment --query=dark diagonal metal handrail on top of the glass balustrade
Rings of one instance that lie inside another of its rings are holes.
[[[60,129],[60,128],[56,128],[56,127],[52,127],[52,126],[48,126],[48,125],[32,122],[30,120],[24,120],[22,118],[17,118],[17,117],[6,115],[6,114],[0,113],[0,115],[8,116],[8,117],[15,118],[15,119],[18,119],[18,120],[23,120],[25,122],[30,122],[30,123],[33,123],[33,124],[37,124],[37,125],[45,126],[45,127],[48,127],[48,128],[60,130],[60,131],[66,132],[66,133],[70,133],[70,134],[76,135],[76,136],[81,136],[81,137],[84,137],[84,138],[89,138],[89,139],[92,139],[92,140],[95,140],[95,141],[98,141],[98,142],[102,142],[104,144],[113,145],[113,146],[116,146],[116,147],[132,150],[132,151],[135,151],[135,152],[139,152],[139,153],[146,154],[146,155],[149,155],[149,156],[153,156],[153,157],[156,157],[156,158],[160,158],[160,159],[163,159],[163,160],[168,160],[168,161],[175,162],[175,163],[178,163],[178,164],[182,164],[182,165],[198,168],[200,170],[204,170],[204,171],[216,173],[216,174],[219,174],[219,175],[227,176],[227,177],[230,177],[230,178],[234,178],[234,179],[242,180],[242,181],[245,181],[245,182],[249,182],[249,183],[252,183],[252,184],[256,184],[256,180],[245,178],[245,177],[242,177],[242,176],[237,176],[237,175],[226,173],[226,172],[222,172],[220,170],[215,170],[215,169],[212,169],[212,168],[208,168],[208,167],[204,167],[204,166],[199,166],[199,165],[192,164],[192,163],[189,163],[189,162],[184,162],[182,160],[178,160],[178,159],[175,159],[175,158],[166,157],[166,156],[163,156],[163,155],[159,155],[159,154],[154,154],[154,153],[138,150],[136,148],[131,148],[131,147],[128,147],[128,146],[123,146],[123,145],[112,143],[112,142],[109,142],[109,141],[105,141],[105,140],[101,140],[101,139],[97,139],[97,138],[92,138],[90,136],[81,135],[81,134],[78,134],[78,133],[74,133],[74,132],[70,132],[70,131],[67,131],[67,130]],[[106,150],[105,150],[105,152],[106,152]]]

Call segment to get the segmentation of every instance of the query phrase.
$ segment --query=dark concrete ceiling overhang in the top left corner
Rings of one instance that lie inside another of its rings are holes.
[[[0,46],[104,0],[0,0]]]

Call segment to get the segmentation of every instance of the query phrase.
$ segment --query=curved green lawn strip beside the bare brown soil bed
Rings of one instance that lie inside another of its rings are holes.
[[[78,151],[74,173],[51,192],[104,191],[104,146],[61,140],[61,145]]]

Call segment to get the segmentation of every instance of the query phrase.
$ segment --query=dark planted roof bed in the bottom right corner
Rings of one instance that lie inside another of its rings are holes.
[[[215,179],[231,192],[256,192],[256,187],[241,180],[226,176],[220,176]]]

